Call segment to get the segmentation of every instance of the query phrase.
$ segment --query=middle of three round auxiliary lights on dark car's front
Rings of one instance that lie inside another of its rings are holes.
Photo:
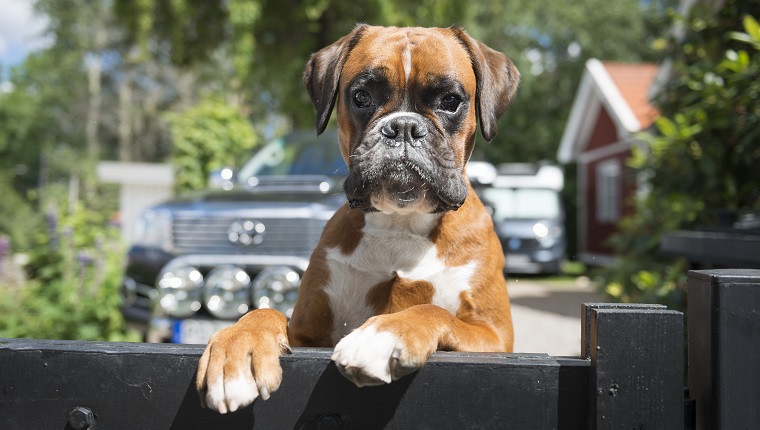
[[[218,318],[237,318],[248,312],[251,277],[236,266],[219,266],[206,275],[203,303]]]

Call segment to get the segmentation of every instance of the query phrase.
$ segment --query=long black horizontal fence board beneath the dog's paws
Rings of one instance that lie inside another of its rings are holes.
[[[83,406],[94,414],[90,428],[101,429],[586,428],[585,411],[576,409],[584,405],[585,360],[437,353],[396,383],[359,389],[338,373],[330,351],[296,349],[282,358],[283,385],[268,401],[218,415],[201,409],[195,393],[201,352],[3,340],[0,427],[67,428],[70,411]]]

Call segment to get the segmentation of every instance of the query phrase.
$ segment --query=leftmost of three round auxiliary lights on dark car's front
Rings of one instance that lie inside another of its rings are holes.
[[[195,267],[165,270],[158,279],[159,304],[173,317],[187,317],[201,308],[203,275]]]

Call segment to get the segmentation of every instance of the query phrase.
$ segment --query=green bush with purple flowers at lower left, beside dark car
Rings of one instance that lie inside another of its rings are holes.
[[[26,284],[0,284],[0,337],[138,341],[121,314],[124,250],[95,212],[48,216]]]

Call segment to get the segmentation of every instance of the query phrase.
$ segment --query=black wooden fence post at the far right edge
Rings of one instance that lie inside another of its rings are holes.
[[[690,271],[688,305],[697,429],[760,428],[760,270]]]

